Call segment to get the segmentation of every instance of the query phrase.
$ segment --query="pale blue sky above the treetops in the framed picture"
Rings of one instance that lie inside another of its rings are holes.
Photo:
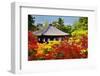
[[[35,17],[35,24],[43,24],[46,21],[50,24],[53,21],[58,20],[58,18],[64,19],[65,25],[72,25],[75,21],[78,21],[80,17],[78,16],[50,16],[50,15],[32,15]]]

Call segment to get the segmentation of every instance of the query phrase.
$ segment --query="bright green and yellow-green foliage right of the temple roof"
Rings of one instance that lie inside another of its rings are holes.
[[[80,17],[79,21],[75,22],[72,27],[72,36],[81,36],[88,34],[88,17]]]

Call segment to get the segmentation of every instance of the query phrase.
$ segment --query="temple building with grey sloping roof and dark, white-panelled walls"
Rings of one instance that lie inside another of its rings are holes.
[[[69,34],[65,33],[56,27],[52,26],[51,24],[48,27],[45,27],[42,30],[38,30],[33,32],[38,37],[38,41],[40,43],[48,42],[50,40],[63,40],[64,37],[68,37]]]

